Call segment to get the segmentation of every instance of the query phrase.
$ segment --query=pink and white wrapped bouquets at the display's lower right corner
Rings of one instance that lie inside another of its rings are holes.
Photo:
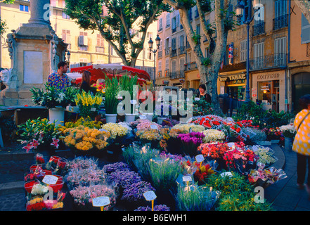
[[[264,169],[264,167],[265,165],[259,162],[257,163],[257,169],[251,169],[250,174],[248,174],[250,183],[266,188],[288,177],[283,169],[276,169],[275,167]]]

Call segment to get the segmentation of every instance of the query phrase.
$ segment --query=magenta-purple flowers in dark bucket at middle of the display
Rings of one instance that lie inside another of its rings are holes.
[[[203,143],[202,139],[205,138],[205,134],[201,132],[191,132],[189,134],[179,134],[178,138],[181,141],[183,154],[194,156],[197,155],[197,148]]]

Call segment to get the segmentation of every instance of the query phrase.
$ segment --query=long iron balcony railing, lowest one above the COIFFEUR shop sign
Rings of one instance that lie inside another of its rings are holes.
[[[264,70],[270,68],[285,68],[286,53],[277,53],[270,56],[262,56],[250,59],[250,70]]]

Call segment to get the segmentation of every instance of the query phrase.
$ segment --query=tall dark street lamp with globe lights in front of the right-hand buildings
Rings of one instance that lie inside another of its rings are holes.
[[[257,11],[259,11],[259,7],[257,4],[259,4],[259,0],[252,0],[253,1],[253,9],[254,13],[252,17],[250,16],[251,13],[251,7],[248,7],[248,12],[247,12],[247,20],[245,21],[245,24],[247,25],[247,84],[245,87],[245,101],[250,101],[250,41],[249,41],[249,31],[250,31],[250,23],[252,22],[254,15]],[[249,0],[249,4],[251,4],[251,1]],[[235,14],[240,18],[243,16],[245,6],[241,5],[240,2],[235,6]]]

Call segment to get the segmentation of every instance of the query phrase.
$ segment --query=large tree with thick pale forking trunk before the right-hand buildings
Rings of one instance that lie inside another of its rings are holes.
[[[179,10],[181,24],[183,25],[188,43],[193,50],[193,56],[200,73],[200,83],[206,84],[207,91],[212,96],[214,111],[219,113],[219,97],[217,94],[217,78],[221,62],[226,52],[227,35],[229,30],[233,30],[236,25],[233,20],[233,11],[229,10],[231,0],[164,0],[174,9]],[[209,53],[211,56],[204,57],[200,48],[200,37],[194,32],[188,18],[188,9],[197,6],[200,24],[207,40],[209,41]],[[215,18],[212,25],[207,23],[205,13],[214,11]],[[217,42],[214,41],[213,34],[217,33]]]

